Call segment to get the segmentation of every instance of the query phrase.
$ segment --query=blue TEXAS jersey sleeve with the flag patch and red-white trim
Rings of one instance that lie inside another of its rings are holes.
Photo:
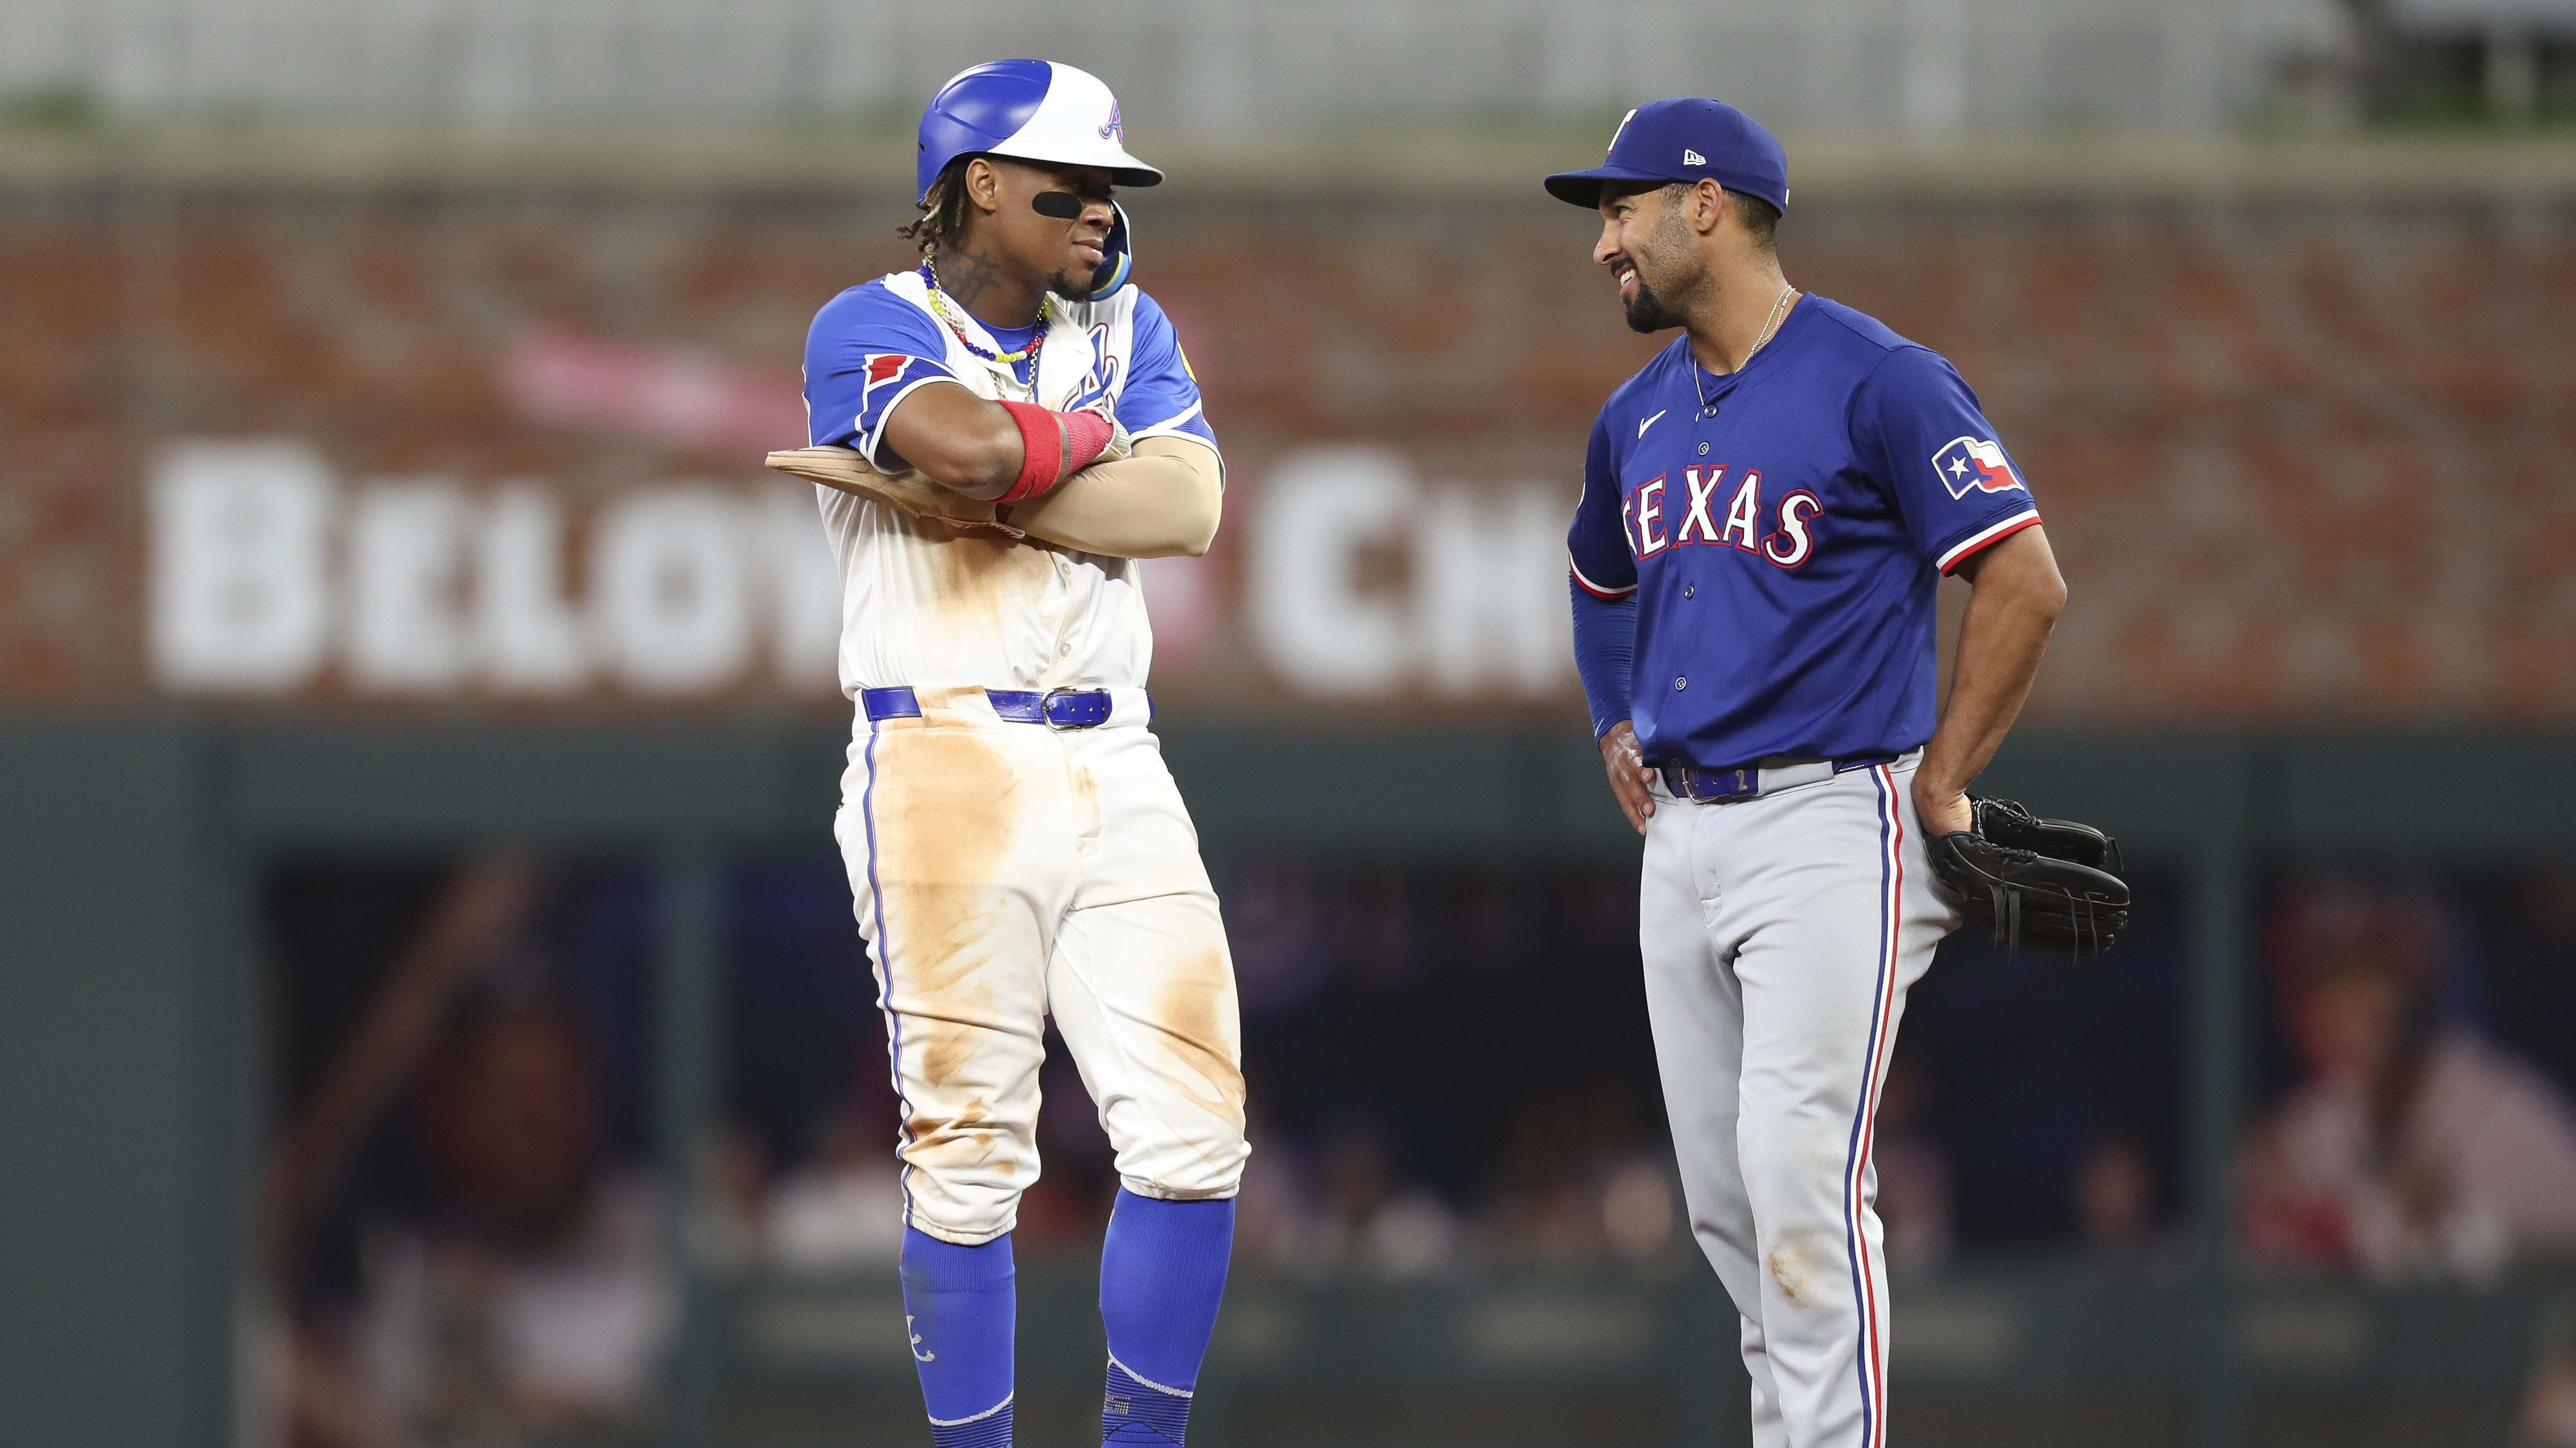
[[[2040,520],[1976,392],[1940,353],[1896,348],[1852,397],[1852,446],[1940,572]]]

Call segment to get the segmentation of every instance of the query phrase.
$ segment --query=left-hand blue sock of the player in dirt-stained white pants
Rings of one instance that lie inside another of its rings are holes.
[[[904,1229],[904,1327],[938,1448],[1010,1448],[1010,1234],[958,1247]]]

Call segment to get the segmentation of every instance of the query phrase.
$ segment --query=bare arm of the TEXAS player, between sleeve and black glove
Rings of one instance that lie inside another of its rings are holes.
[[[2025,528],[1965,569],[1973,585],[1968,613],[1958,626],[1958,667],[1950,680],[1950,706],[1924,747],[1917,788],[1953,796],[1968,788],[1994,750],[2004,745],[2012,721],[2040,675],[2048,634],[2066,608],[2066,580],[2040,528]]]

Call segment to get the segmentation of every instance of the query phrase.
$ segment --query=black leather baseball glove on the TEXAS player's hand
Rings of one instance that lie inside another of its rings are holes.
[[[1996,943],[2099,956],[2128,930],[2117,840],[2092,824],[2038,819],[2009,799],[1968,806],[1973,830],[1929,840],[1932,873]]]

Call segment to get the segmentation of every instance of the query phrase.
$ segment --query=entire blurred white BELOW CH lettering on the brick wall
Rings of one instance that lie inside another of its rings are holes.
[[[1296,693],[1571,693],[1564,490],[1425,482],[1388,448],[1283,459],[1234,523],[1242,626]],[[304,443],[183,443],[152,474],[149,647],[178,693],[829,698],[840,572],[809,487],[659,484],[595,515],[538,479],[379,479]],[[1167,667],[1221,608],[1157,564]],[[1213,636],[1213,634],[1211,634]]]

